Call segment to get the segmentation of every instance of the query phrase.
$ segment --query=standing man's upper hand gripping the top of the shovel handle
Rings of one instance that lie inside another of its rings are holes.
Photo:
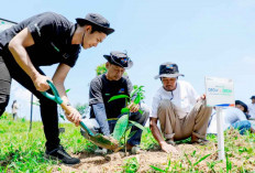
[[[36,90],[45,91],[45,90],[49,89],[47,80],[51,80],[53,83],[53,80],[49,77],[38,74],[33,79],[33,83],[34,83],[34,86],[35,86]]]

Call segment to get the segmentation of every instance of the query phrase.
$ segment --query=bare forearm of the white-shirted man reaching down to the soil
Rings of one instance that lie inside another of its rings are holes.
[[[167,153],[177,152],[176,148],[171,144],[166,143],[166,141],[162,137],[162,133],[157,128],[157,118],[149,118],[149,129],[153,133],[153,137],[156,139],[163,151]]]

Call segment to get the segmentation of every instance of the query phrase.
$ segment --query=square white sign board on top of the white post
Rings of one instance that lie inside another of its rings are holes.
[[[234,106],[234,83],[232,79],[206,77],[207,106]]]

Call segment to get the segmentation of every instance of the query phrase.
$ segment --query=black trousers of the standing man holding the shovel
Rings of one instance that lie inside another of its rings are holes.
[[[44,74],[38,67],[35,68]],[[5,110],[10,97],[11,80],[15,79],[23,87],[30,90],[40,100],[41,117],[46,138],[46,149],[53,150],[59,145],[58,138],[58,116],[57,104],[44,97],[35,86],[29,75],[16,64],[11,56],[0,55],[0,116]]]

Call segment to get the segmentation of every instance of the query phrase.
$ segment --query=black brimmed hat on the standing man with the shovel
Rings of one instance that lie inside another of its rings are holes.
[[[97,26],[101,28],[102,32],[107,35],[114,32],[114,29],[110,28],[110,22],[98,13],[88,13],[85,19],[77,18],[76,22],[80,25],[96,24]]]

